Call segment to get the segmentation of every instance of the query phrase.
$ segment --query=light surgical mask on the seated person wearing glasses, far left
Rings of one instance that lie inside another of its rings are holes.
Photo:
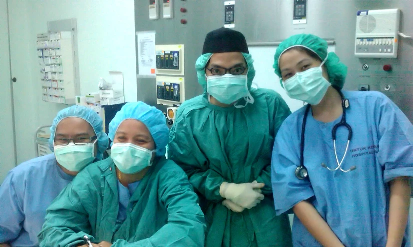
[[[94,157],[94,143],[85,145],[55,145],[54,155],[57,162],[71,172],[78,172],[92,163]]]

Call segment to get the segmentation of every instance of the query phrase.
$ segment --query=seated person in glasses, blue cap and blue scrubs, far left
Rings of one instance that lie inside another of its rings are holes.
[[[0,247],[38,246],[47,207],[81,169],[103,158],[108,140],[90,108],[59,111],[50,127],[54,153],[18,165],[0,187]]]

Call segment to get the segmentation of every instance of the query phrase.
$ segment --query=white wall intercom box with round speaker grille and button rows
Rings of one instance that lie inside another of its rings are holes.
[[[356,22],[356,57],[397,58],[399,9],[360,10]]]

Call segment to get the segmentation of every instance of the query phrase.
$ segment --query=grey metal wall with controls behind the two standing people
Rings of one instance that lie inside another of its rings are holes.
[[[196,85],[193,64],[201,53],[206,33],[224,25],[224,1],[174,1],[172,19],[150,20],[148,2],[135,0],[135,21],[139,23],[135,25],[136,31],[155,30],[156,44],[185,45],[186,99],[202,92]],[[357,10],[399,8],[402,11],[400,31],[411,35],[413,26],[409,23],[413,23],[413,8],[410,0],[312,0],[308,1],[306,24],[293,24],[293,0],[235,2],[234,29],[241,31],[249,44],[279,42],[298,33],[313,33],[331,40],[336,44],[336,53],[349,67],[345,89],[358,90],[361,85],[368,84],[371,90],[389,96],[413,121],[413,39],[399,38],[398,59],[360,59],[354,55]],[[186,11],[180,12],[181,7]],[[159,12],[162,16],[162,10]],[[370,67],[368,71],[362,69],[365,63]],[[384,71],[385,64],[393,65],[393,71]],[[138,99],[155,105],[155,79],[138,78],[137,84]],[[385,90],[384,85],[391,85],[392,90]]]

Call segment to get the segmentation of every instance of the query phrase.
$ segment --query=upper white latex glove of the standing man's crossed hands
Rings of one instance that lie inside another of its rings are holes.
[[[264,195],[254,189],[261,189],[265,186],[263,183],[234,184],[223,182],[219,187],[221,197],[231,200],[246,209],[251,209],[264,199]]]

